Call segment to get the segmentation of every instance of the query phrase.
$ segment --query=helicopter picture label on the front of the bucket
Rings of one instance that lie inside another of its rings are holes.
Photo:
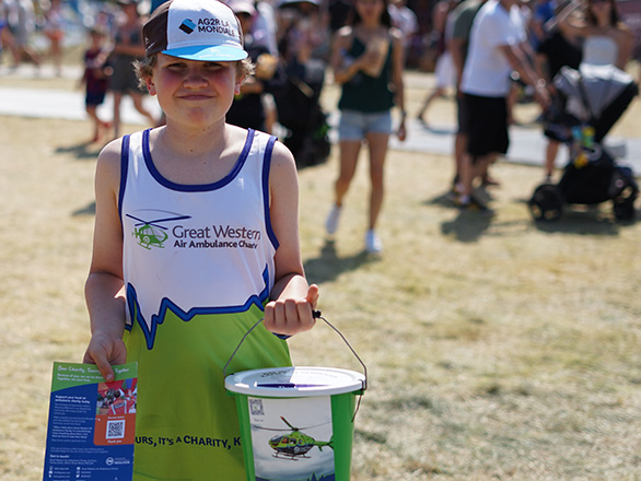
[[[247,400],[256,481],[335,479],[329,396]]]

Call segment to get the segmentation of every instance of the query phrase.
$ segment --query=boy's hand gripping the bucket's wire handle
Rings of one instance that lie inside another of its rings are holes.
[[[318,302],[318,286],[307,288],[307,295],[302,298],[279,298],[265,306],[265,327],[267,330],[285,336],[293,336],[310,330],[316,324],[313,310]]]

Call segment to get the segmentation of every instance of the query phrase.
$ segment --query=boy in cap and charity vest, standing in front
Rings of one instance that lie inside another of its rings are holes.
[[[318,288],[299,248],[298,178],[275,138],[225,122],[247,54],[218,0],[170,0],[143,28],[139,74],[166,125],[101,152],[92,338],[107,382],[138,361],[135,480],[245,479],[230,372],[290,365]],[[278,335],[278,336],[277,336]]]

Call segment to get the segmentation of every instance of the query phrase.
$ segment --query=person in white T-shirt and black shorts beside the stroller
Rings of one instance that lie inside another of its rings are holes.
[[[499,155],[508,152],[508,103],[510,74],[535,87],[543,106],[549,102],[545,81],[536,74],[522,46],[522,28],[516,0],[490,0],[475,17],[469,54],[463,70],[461,90],[468,108],[464,130],[468,136],[467,155],[462,165],[463,192],[459,207],[492,213],[471,196],[476,177]]]

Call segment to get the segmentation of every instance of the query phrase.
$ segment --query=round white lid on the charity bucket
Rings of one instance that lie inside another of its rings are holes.
[[[365,376],[334,367],[271,367],[243,371],[225,378],[232,392],[273,398],[331,396],[362,390]]]

